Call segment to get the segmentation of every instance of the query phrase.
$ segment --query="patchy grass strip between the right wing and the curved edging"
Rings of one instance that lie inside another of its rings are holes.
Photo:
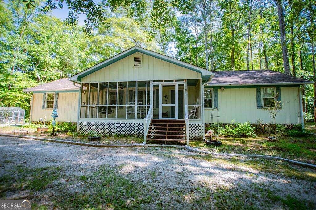
[[[316,164],[316,136],[283,137],[271,142],[265,135],[258,135],[255,138],[220,137],[220,141],[221,147],[207,146],[203,141],[193,141],[190,145],[216,153],[271,155]]]

